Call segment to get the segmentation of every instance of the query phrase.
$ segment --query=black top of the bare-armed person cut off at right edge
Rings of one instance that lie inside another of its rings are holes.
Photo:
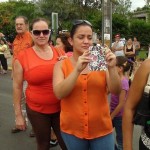
[[[146,122],[150,120],[150,75],[147,84],[144,88],[143,95],[140,103],[138,104],[134,117],[133,123],[135,125],[145,126]]]

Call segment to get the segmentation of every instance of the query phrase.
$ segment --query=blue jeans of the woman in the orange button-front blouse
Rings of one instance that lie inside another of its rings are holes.
[[[61,132],[68,150],[114,150],[113,133],[95,139],[80,139],[74,135]]]

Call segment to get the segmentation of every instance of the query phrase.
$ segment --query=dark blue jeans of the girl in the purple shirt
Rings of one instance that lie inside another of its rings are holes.
[[[117,145],[115,145],[115,150],[123,150],[122,117],[115,117],[112,122],[113,122],[113,127],[116,130]]]

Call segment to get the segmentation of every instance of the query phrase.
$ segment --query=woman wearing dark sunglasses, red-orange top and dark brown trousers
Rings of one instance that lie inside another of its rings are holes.
[[[48,44],[50,30],[45,19],[36,19],[32,24],[34,46],[18,54],[14,62],[14,108],[16,126],[25,130],[26,124],[21,112],[23,80],[28,82],[26,89],[26,109],[37,140],[37,150],[49,150],[51,127],[57,136],[62,150],[66,146],[60,134],[60,101],[52,88],[52,75],[58,54]]]

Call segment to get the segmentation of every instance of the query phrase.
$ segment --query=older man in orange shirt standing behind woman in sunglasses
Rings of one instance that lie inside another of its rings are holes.
[[[13,46],[12,46],[13,48],[12,78],[14,78],[13,66],[14,66],[15,58],[21,51],[33,45],[32,37],[29,32],[29,22],[25,16],[16,17],[15,28],[16,28],[17,35],[13,41]],[[27,82],[24,81],[24,86],[23,86],[24,91],[23,91],[23,96],[22,96],[22,111],[24,112],[25,116],[26,116],[26,112],[25,112],[25,94],[24,93],[25,93],[26,87],[27,87]],[[20,131],[22,130],[18,129],[17,127],[13,127],[11,130],[12,133],[18,133]],[[34,132],[32,130],[30,132],[30,137],[34,137]]]

